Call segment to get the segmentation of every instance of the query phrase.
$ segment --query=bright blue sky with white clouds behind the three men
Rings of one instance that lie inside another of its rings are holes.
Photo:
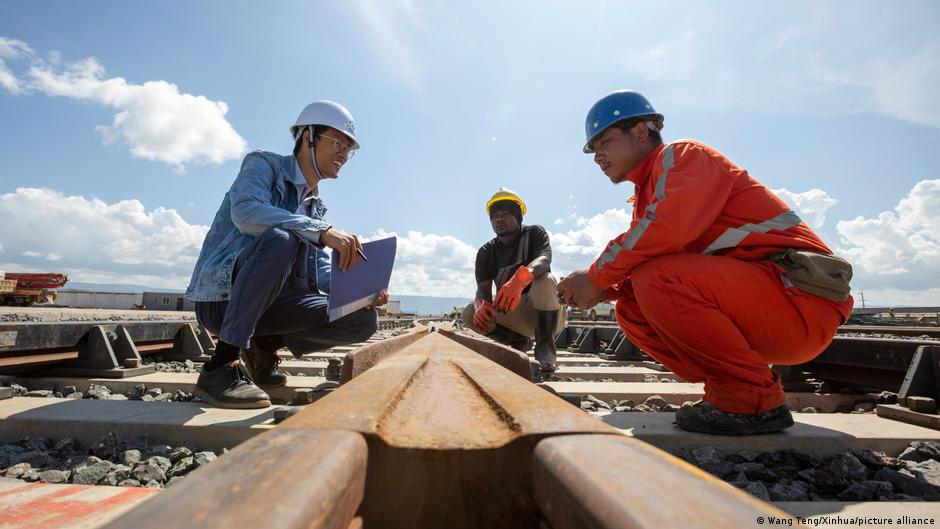
[[[0,269],[184,287],[244,152],[333,99],[362,149],[328,218],[399,234],[393,293],[473,292],[499,186],[567,272],[626,228],[580,147],[633,88],[785,189],[856,291],[940,304],[940,5],[900,5],[0,2]]]

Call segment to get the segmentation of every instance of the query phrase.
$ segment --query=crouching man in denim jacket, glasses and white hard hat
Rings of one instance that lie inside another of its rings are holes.
[[[294,154],[255,151],[212,221],[186,297],[196,302],[199,323],[219,337],[215,354],[196,382],[196,392],[225,408],[271,405],[261,387],[279,387],[277,350],[295,355],[366,340],[378,328],[376,302],[330,322],[327,303],[330,257],[346,270],[362,245],[323,220],[318,184],[336,178],[359,148],[352,115],[332,101],[304,108],[291,127]],[[247,371],[239,364],[244,352]],[[256,385],[257,384],[257,385]]]

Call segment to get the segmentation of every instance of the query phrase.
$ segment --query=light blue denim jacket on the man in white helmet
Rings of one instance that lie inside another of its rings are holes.
[[[326,206],[314,198],[310,217],[297,215],[300,198],[291,183],[297,162],[293,156],[255,151],[248,153],[231,189],[222,199],[212,227],[202,243],[202,251],[186,289],[192,301],[225,301],[232,292],[232,268],[245,248],[269,228],[290,230],[304,241],[307,252],[307,278],[316,278],[323,292],[330,288],[330,257],[322,245],[307,241],[304,234],[330,227],[325,222]],[[312,281],[311,281],[312,283]]]

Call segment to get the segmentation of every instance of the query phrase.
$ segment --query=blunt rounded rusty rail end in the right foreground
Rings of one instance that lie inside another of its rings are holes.
[[[707,472],[625,436],[545,439],[535,448],[535,501],[552,529],[755,527],[790,515]]]

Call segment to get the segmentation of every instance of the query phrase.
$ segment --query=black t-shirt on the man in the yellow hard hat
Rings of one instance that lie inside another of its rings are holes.
[[[548,232],[541,226],[523,226],[519,237],[511,246],[494,238],[477,251],[477,283],[494,281],[498,291],[520,266],[528,265],[533,259],[543,255],[548,257],[549,261],[552,260]],[[523,292],[527,290],[528,287]]]

